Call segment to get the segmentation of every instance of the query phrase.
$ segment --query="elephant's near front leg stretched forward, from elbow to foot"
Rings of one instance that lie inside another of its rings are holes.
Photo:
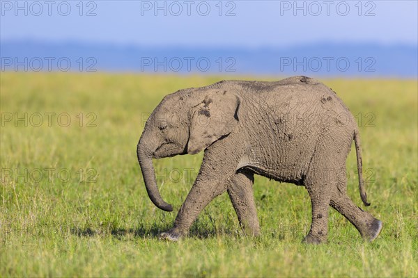
[[[174,226],[160,235],[160,239],[177,241],[186,236],[194,220],[212,199],[226,191],[222,175],[206,175],[199,173],[185,202],[178,211]]]

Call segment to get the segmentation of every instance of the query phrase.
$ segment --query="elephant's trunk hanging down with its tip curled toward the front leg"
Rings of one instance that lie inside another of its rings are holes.
[[[144,177],[146,192],[155,206],[163,211],[173,211],[173,206],[164,202],[157,188],[153,165],[153,152],[155,152],[155,149],[149,148],[147,145],[144,145],[144,142],[139,140],[137,156],[139,165],[141,166],[142,177]]]

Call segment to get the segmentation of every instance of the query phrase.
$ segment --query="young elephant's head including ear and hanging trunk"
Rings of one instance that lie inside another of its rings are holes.
[[[197,154],[227,136],[238,124],[240,98],[221,88],[180,90],[167,95],[148,118],[137,145],[137,156],[148,196],[164,211],[153,158]]]

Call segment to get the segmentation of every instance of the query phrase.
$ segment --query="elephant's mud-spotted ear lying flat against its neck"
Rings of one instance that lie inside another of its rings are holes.
[[[233,131],[238,124],[240,97],[226,90],[203,94],[201,103],[189,111],[188,154],[197,154]]]

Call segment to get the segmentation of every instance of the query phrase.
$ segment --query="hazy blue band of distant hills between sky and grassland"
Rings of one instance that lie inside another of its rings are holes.
[[[0,42],[1,71],[107,71],[417,78],[418,46],[318,43],[295,47],[141,47]]]

